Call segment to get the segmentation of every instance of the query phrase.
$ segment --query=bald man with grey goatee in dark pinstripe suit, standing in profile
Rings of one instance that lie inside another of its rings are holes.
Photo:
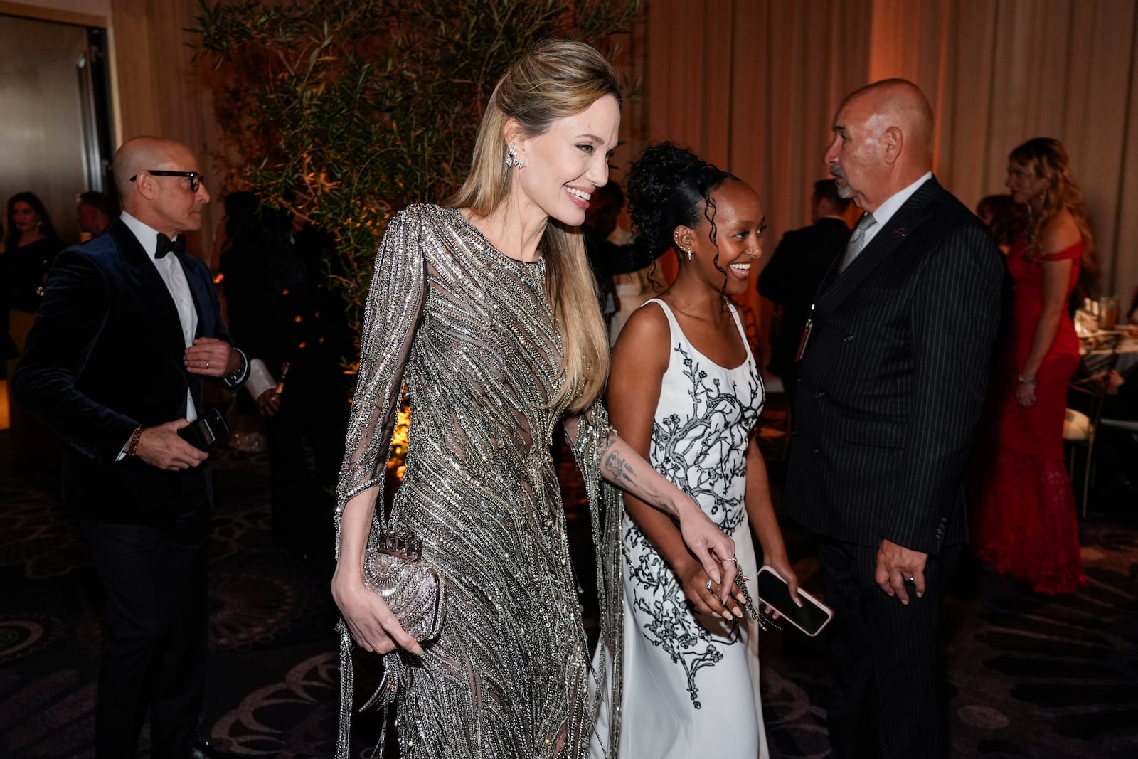
[[[948,756],[941,599],[1004,269],[930,171],[932,123],[916,85],[877,82],[842,102],[825,156],[865,214],[811,311],[786,508],[819,539],[843,758]]]

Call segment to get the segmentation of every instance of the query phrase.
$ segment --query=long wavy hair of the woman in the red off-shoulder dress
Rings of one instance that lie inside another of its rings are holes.
[[[1030,168],[1039,179],[1048,180],[1047,189],[1040,197],[1039,215],[1028,222],[1024,261],[1036,263],[1042,258],[1044,230],[1065,208],[1074,218],[1082,236],[1080,279],[1094,278],[1098,273],[1095,237],[1090,233],[1090,224],[1087,222],[1082,191],[1067,170],[1066,148],[1054,138],[1037,137],[1012,150],[1008,160]]]

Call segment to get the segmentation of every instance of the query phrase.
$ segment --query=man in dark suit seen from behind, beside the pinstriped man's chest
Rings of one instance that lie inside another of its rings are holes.
[[[815,182],[811,197],[814,223],[786,232],[770,263],[759,274],[759,295],[782,307],[767,369],[782,380],[791,404],[794,403],[798,343],[822,278],[850,239],[850,228],[843,217],[849,206],[849,198],[838,193],[835,180]]]

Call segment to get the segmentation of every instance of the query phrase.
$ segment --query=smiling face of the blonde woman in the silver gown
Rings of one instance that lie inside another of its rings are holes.
[[[607,94],[585,110],[556,118],[542,134],[514,132],[508,145],[525,167],[513,168],[511,193],[569,226],[585,221],[588,200],[609,181],[609,158],[617,147],[620,107]]]

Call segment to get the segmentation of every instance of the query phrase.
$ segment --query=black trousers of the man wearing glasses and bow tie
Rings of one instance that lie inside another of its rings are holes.
[[[134,757],[148,709],[154,759],[184,759],[197,740],[208,636],[207,496],[182,505],[193,508],[163,526],[80,519],[106,595],[98,759]]]

